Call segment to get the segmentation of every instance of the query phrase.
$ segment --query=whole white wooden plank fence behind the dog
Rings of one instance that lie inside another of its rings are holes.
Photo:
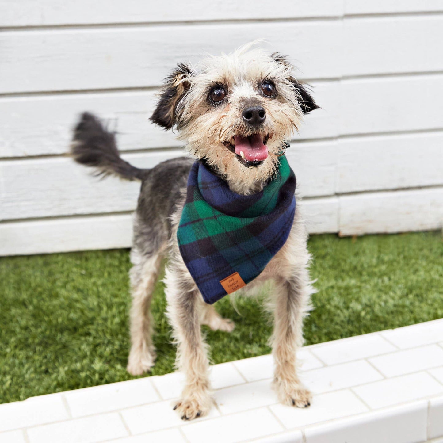
[[[0,0],[0,255],[127,247],[138,183],[65,153],[78,113],[141,167],[182,155],[147,121],[176,62],[261,38],[318,104],[288,150],[311,233],[443,223],[441,0]]]

